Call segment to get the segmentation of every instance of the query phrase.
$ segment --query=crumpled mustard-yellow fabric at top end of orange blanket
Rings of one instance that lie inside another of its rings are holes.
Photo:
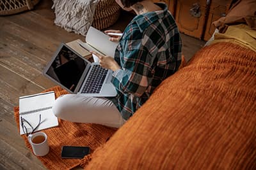
[[[239,24],[228,26],[225,33],[216,32],[211,43],[230,42],[246,46],[256,52],[256,31],[248,25]]]

